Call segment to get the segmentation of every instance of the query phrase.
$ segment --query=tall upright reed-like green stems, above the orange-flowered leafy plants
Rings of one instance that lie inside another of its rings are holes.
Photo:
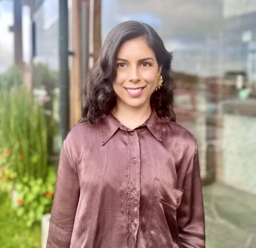
[[[23,86],[0,90],[0,149],[8,155],[17,180],[47,175],[47,125],[44,109]]]

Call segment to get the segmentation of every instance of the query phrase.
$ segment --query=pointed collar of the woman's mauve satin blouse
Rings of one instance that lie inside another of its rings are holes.
[[[118,130],[121,128],[122,124],[118,119],[116,119],[110,112],[104,118],[100,119],[100,134],[101,134],[101,144],[104,145]],[[152,113],[148,119],[140,125],[146,126],[148,130],[154,135],[154,137],[162,141],[162,123],[156,120],[156,111],[152,109]],[[123,126],[122,126],[123,127]],[[129,131],[131,129],[127,129]]]

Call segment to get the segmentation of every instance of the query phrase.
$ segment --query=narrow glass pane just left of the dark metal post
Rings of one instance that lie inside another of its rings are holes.
[[[45,106],[51,118],[50,151],[59,152],[59,3],[37,0],[33,5],[33,94]]]

